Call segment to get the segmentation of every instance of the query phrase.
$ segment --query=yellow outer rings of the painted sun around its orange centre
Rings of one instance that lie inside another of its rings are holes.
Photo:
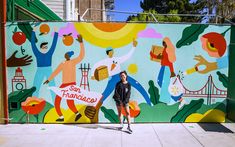
[[[79,34],[89,43],[102,47],[123,47],[137,38],[138,32],[146,28],[146,24],[130,23],[119,30],[109,32],[97,28],[92,23],[74,23],[74,27]]]

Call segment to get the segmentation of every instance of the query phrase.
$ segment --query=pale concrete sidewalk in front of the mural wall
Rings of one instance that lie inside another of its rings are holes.
[[[0,125],[0,147],[234,147],[235,123]]]

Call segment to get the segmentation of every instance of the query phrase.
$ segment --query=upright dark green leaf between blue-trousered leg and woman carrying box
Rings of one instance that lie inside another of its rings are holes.
[[[149,90],[150,94],[150,101],[152,102],[153,105],[156,105],[159,103],[159,90],[158,88],[154,85],[154,82],[152,80],[149,81]]]

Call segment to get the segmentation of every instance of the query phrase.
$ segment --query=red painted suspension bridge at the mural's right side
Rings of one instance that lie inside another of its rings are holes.
[[[183,86],[183,96],[182,97],[193,97],[193,98],[207,98],[207,105],[211,104],[212,98],[226,98],[227,90],[221,90],[217,88],[213,82],[212,76],[208,76],[206,84],[199,90],[189,90],[184,86],[178,75],[176,80],[179,80],[180,84]]]

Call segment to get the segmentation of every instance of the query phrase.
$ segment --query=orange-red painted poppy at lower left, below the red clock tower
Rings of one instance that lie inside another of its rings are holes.
[[[26,101],[21,103],[21,108],[28,114],[39,114],[46,105],[46,101],[42,98],[28,97]]]

